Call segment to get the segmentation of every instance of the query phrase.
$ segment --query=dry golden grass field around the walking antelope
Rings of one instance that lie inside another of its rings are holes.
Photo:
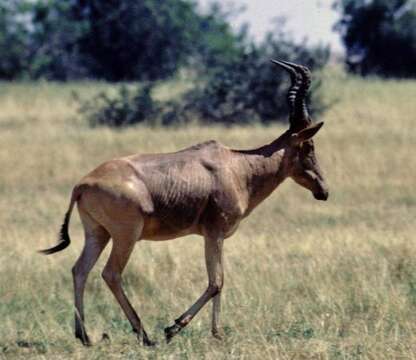
[[[166,99],[188,86],[174,82]],[[100,83],[0,84],[1,359],[415,359],[416,82],[362,80],[329,71],[318,159],[330,186],[318,202],[287,180],[225,242],[220,342],[208,304],[173,341],[171,325],[204,291],[203,240],[137,244],[127,294],[156,348],[144,348],[101,278],[90,274],[86,326],[73,336],[71,267],[83,245],[76,211],[71,246],[48,257],[73,185],[104,160],[169,152],[217,139],[233,148],[270,142],[264,127],[90,128],[71,93]],[[285,101],[285,99],[282,99]],[[107,333],[110,341],[102,341]]]

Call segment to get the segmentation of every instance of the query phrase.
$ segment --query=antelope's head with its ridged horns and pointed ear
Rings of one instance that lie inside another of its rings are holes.
[[[328,186],[318,164],[312,140],[324,123],[312,123],[305,100],[311,84],[311,73],[308,68],[287,61],[272,62],[284,68],[292,81],[287,95],[290,109],[290,127],[286,142],[288,176],[310,190],[315,199],[327,200]]]

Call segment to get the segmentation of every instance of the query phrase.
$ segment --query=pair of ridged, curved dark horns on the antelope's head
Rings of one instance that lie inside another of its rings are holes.
[[[306,107],[305,97],[311,85],[311,72],[305,66],[294,64],[288,61],[272,60],[287,71],[290,71],[292,87],[289,89],[288,100],[290,98],[290,127],[301,130],[310,125],[308,109]],[[289,70],[290,69],[290,70]],[[294,75],[296,74],[296,84],[293,84]]]

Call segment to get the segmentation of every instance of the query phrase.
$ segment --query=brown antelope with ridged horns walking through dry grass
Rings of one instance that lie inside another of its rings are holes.
[[[208,141],[174,153],[121,157],[99,165],[74,187],[60,241],[41,252],[52,254],[69,245],[68,226],[76,203],[85,233],[84,248],[72,268],[75,337],[82,344],[91,344],[84,325],[85,283],[110,238],[112,250],[102,277],[138,340],[152,346],[155,343],[149,339],[121,282],[134,245],[140,240],[203,236],[208,286],[172,326],[165,328],[165,338],[170,342],[212,299],[211,332],[221,339],[224,240],[286,178],[310,190],[315,199],[327,200],[328,187],[312,140],[323,122],[312,124],[305,100],[311,73],[298,64],[272,62],[291,78],[287,94],[290,126],[276,140],[251,150],[234,150]]]

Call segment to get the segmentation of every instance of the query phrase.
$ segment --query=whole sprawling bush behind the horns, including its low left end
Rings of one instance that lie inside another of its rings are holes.
[[[187,123],[194,119],[207,123],[268,123],[287,119],[286,94],[289,76],[269,60],[284,59],[321,69],[328,61],[327,48],[294,44],[285,33],[269,34],[261,45],[248,44],[238,56],[217,58],[193,81],[195,88],[177,102],[159,103],[151,99],[150,88],[130,92],[122,88],[118,97],[101,94],[87,109],[94,125],[124,126],[149,121],[163,125]],[[198,80],[199,79],[199,80]],[[190,80],[192,81],[192,80]],[[322,100],[319,71],[309,92],[310,112],[323,112],[329,104]]]

